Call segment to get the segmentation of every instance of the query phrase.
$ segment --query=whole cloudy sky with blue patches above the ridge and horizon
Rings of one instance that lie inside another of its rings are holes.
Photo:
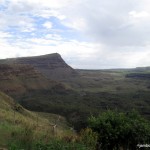
[[[51,53],[76,69],[150,66],[150,1],[0,0],[0,59]]]

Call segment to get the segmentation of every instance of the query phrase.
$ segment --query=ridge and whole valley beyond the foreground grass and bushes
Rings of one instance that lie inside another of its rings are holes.
[[[75,70],[59,54],[5,59],[0,64],[13,68],[13,73],[1,69],[1,90],[29,110],[65,116],[77,130],[86,126],[88,116],[106,109],[136,109],[150,118],[149,67]],[[15,94],[7,90],[12,86],[19,87]]]

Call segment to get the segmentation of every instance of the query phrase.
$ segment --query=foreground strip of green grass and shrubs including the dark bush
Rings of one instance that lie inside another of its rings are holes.
[[[82,129],[78,135],[54,136],[49,128],[44,132],[31,124],[3,122],[0,147],[9,150],[136,150],[138,144],[150,142],[150,122],[136,111],[108,110],[90,117],[88,123],[90,128]]]

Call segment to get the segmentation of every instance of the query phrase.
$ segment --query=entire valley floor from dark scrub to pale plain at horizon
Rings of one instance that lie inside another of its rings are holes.
[[[21,104],[31,110],[64,115],[76,129],[85,126],[90,114],[107,109],[125,112],[136,109],[150,118],[150,80],[128,78],[127,74],[135,72],[134,69],[77,71],[78,77],[63,81],[73,91],[34,91],[22,96]]]

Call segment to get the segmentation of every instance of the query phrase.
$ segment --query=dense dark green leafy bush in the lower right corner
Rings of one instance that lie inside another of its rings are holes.
[[[138,144],[149,144],[150,122],[136,111],[119,113],[108,110],[89,118],[89,127],[98,133],[98,148],[136,150]]]

